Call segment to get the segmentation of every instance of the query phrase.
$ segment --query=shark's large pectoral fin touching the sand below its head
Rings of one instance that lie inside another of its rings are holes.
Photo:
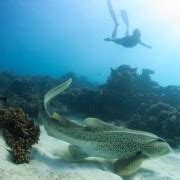
[[[115,172],[122,177],[131,175],[138,171],[145,159],[142,152],[137,152],[129,159],[118,159],[114,164]]]

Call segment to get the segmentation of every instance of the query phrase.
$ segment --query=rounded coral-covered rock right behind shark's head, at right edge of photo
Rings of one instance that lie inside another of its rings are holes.
[[[169,104],[159,102],[151,105],[143,114],[133,115],[127,127],[155,133],[170,144],[175,144],[175,138],[180,134],[179,112]]]

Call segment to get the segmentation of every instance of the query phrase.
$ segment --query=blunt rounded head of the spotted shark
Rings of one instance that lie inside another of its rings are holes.
[[[169,154],[171,147],[169,144],[161,138],[152,138],[145,144],[143,154],[149,158],[156,158]]]

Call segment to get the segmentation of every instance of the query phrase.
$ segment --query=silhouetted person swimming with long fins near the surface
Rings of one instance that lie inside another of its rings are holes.
[[[105,41],[112,41],[112,42],[114,42],[116,44],[120,44],[120,45],[122,45],[124,47],[127,47],[127,48],[132,48],[132,47],[140,44],[140,45],[142,45],[142,46],[144,46],[146,48],[151,49],[152,48],[151,46],[149,46],[149,45],[147,45],[147,44],[145,44],[145,43],[143,43],[141,41],[141,32],[140,32],[139,29],[135,29],[133,31],[133,34],[129,35],[129,18],[128,18],[126,10],[121,10],[121,18],[122,18],[122,20],[124,21],[124,23],[126,25],[125,36],[122,37],[122,38],[116,38],[119,23],[117,21],[115,12],[114,12],[114,10],[112,8],[111,0],[106,0],[106,3],[107,3],[107,6],[108,6],[110,15],[111,15],[111,17],[112,17],[112,19],[114,21],[115,27],[114,27],[111,38],[106,38],[104,40]]]

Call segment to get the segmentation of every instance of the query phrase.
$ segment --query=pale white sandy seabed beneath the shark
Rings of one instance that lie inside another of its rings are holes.
[[[29,164],[15,165],[9,158],[7,146],[0,138],[0,180],[116,180],[113,164],[103,159],[89,158],[75,162],[69,158],[67,143],[49,137],[41,127],[39,144],[33,148]],[[167,157],[144,162],[130,179],[180,179],[180,150]]]

